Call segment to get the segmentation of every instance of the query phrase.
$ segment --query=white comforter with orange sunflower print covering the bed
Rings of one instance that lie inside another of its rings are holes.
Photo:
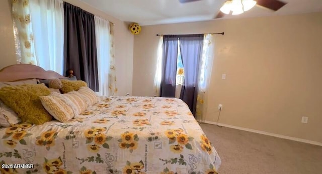
[[[176,98],[102,97],[69,122],[0,128],[2,173],[217,173],[221,160]]]

